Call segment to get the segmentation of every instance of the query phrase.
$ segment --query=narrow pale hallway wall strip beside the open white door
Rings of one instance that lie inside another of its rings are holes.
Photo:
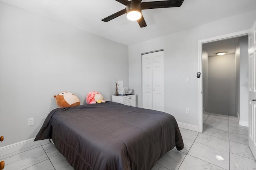
[[[249,77],[248,64],[248,36],[238,38],[240,45],[240,125],[248,126],[248,98],[249,86],[246,78]]]

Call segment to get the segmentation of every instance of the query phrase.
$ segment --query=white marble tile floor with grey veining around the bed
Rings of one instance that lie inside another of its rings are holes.
[[[248,127],[237,117],[204,113],[203,133],[180,128],[184,149],[167,152],[152,170],[256,170]],[[49,142],[3,155],[4,170],[73,170]]]

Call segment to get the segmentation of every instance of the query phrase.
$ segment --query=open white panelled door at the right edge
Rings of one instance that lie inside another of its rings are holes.
[[[256,158],[256,21],[248,35],[249,54],[249,147]]]

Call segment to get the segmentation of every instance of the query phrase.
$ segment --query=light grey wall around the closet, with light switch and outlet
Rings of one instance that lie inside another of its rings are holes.
[[[164,49],[164,111],[198,126],[198,41],[249,29],[255,20],[256,10],[130,45],[129,87],[137,94],[137,106],[142,107],[141,53]]]

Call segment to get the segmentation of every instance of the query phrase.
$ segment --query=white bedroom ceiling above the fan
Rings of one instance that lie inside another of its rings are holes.
[[[142,10],[147,27],[122,15],[103,18],[125,8],[115,0],[1,0],[125,45],[256,10],[256,0],[184,0],[178,8]],[[142,0],[149,2],[155,0]],[[221,26],[221,25],[220,25]]]

